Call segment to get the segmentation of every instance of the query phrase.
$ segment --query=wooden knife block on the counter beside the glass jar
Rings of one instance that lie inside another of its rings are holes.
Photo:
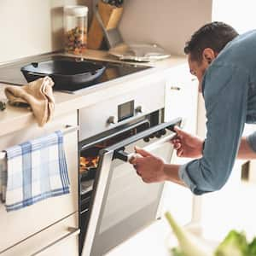
[[[97,10],[107,31],[114,29],[119,25],[119,20],[123,14],[123,7],[116,7],[100,1],[97,5]],[[102,27],[95,14],[91,21],[88,33],[88,48],[101,49],[103,38],[104,33],[102,31]]]

